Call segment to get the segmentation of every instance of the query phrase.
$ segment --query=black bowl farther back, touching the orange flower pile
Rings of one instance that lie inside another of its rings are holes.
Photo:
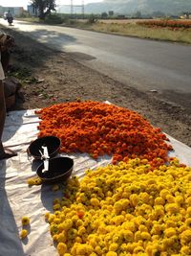
[[[28,148],[29,155],[32,155],[35,159],[41,159],[40,151],[42,151],[42,146],[48,148],[49,156],[52,158],[55,156],[61,146],[61,141],[55,136],[45,136],[32,141]]]

